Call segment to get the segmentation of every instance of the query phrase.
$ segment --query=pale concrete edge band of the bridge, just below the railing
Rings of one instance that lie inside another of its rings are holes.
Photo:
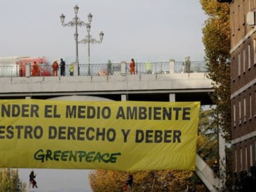
[[[206,73],[0,78],[3,93],[211,89]]]

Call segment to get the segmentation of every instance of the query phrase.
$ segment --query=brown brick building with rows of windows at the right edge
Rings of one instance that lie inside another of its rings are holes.
[[[230,7],[233,191],[256,191],[256,0],[218,2]]]

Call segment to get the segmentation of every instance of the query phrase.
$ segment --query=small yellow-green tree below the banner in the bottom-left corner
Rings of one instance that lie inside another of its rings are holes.
[[[0,191],[25,192],[26,184],[20,181],[18,170],[0,170]]]

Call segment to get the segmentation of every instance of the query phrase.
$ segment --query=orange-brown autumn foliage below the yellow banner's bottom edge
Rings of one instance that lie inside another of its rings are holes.
[[[155,191],[207,191],[192,171],[161,170],[131,173],[134,177],[133,192]],[[93,170],[89,180],[93,191],[125,191],[128,172]]]

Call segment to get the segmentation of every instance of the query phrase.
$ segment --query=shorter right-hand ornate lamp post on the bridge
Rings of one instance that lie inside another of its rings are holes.
[[[90,13],[90,14],[88,14],[87,17],[88,17],[88,23],[86,23],[87,36],[85,36],[85,39],[79,41],[79,43],[84,43],[84,44],[88,43],[88,75],[91,75],[91,72],[90,72],[90,44],[102,43],[104,33],[103,33],[103,31],[100,31],[100,40],[93,39],[92,36],[90,35],[93,15]]]

